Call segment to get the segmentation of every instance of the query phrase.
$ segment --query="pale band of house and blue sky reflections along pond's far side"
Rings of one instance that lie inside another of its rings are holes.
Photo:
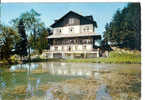
[[[93,67],[94,66],[94,67]],[[101,65],[96,64],[90,64],[86,65],[83,63],[80,64],[71,64],[71,63],[39,63],[39,64],[23,64],[23,65],[13,65],[10,68],[10,71],[16,71],[16,70],[27,70],[28,72],[35,70],[41,70],[45,72],[49,72],[54,75],[66,75],[66,76],[90,76],[92,75],[92,71],[96,70],[99,71],[100,69],[103,69]],[[97,76],[98,74],[95,73]]]

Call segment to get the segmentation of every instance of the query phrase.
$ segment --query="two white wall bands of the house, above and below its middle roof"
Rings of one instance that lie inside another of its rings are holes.
[[[74,25],[53,28],[54,35],[69,35],[69,34],[86,34],[93,33],[93,24]],[[69,45],[52,45],[50,51],[92,51],[93,44],[69,44]]]

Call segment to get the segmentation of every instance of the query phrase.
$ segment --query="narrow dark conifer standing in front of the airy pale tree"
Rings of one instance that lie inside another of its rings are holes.
[[[19,42],[16,44],[16,53],[18,55],[20,55],[21,60],[23,56],[27,56],[27,36],[25,33],[25,27],[24,27],[24,23],[23,20],[20,19],[19,21],[19,25],[18,25],[18,33],[20,35],[20,40]]]

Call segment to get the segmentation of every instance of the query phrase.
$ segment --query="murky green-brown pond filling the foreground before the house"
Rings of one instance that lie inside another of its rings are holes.
[[[140,99],[140,64],[43,62],[5,67],[0,68],[0,100]]]

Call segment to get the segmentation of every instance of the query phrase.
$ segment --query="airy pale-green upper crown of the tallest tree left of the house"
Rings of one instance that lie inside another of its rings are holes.
[[[40,21],[40,14],[37,13],[34,9],[31,9],[29,12],[22,13],[18,18],[13,19],[11,22],[15,28],[17,28],[20,19],[23,20],[25,30],[27,34],[33,35],[33,47],[36,45],[36,38],[39,33],[39,30],[44,27],[44,23]]]

